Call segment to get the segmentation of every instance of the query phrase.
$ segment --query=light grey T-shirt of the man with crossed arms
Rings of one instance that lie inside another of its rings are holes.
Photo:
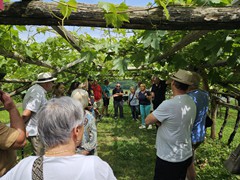
[[[192,156],[191,130],[196,105],[187,95],[163,101],[153,111],[161,122],[157,131],[157,156],[168,162],[182,162]]]

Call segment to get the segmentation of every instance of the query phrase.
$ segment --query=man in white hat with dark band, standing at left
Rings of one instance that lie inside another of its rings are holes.
[[[38,80],[32,87],[30,87],[23,99],[23,120],[27,124],[26,130],[28,134],[28,140],[31,142],[34,155],[43,155],[44,147],[39,140],[37,131],[37,112],[47,102],[46,93],[52,90],[53,81],[57,78],[53,78],[51,73],[40,73]]]

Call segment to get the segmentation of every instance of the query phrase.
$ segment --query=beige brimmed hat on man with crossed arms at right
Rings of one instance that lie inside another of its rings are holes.
[[[183,83],[183,84],[193,85],[193,82],[192,82],[192,72],[190,72],[190,71],[179,69],[170,78],[172,80],[178,81],[178,82]],[[167,83],[169,83],[169,82],[171,82],[171,80],[167,81]]]

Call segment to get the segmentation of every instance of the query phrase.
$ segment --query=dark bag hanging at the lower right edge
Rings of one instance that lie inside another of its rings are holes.
[[[240,144],[224,162],[224,167],[232,174],[240,174]]]

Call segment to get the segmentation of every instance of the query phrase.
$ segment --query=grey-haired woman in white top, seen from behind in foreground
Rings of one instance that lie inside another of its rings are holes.
[[[99,157],[75,153],[84,132],[83,115],[79,101],[70,97],[50,100],[38,113],[38,131],[46,147],[45,155],[23,159],[2,179],[116,179],[110,166]]]

